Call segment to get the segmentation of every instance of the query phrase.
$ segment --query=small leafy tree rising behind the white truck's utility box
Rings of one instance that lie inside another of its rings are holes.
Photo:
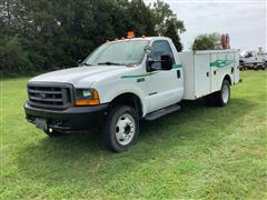
[[[217,44],[219,43],[220,34],[219,33],[206,33],[199,34],[194,43],[192,50],[214,50],[216,49]]]

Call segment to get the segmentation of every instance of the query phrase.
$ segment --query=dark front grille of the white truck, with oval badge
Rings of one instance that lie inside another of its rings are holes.
[[[33,107],[66,109],[72,104],[72,87],[67,83],[29,83],[28,94]]]

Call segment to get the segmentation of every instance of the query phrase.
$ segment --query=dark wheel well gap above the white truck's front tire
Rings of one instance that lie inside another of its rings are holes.
[[[142,104],[140,98],[135,94],[135,93],[122,93],[118,97],[116,97],[111,102],[110,107],[115,107],[117,104],[126,104],[131,108],[134,108],[137,112],[138,116],[141,118],[142,117]]]

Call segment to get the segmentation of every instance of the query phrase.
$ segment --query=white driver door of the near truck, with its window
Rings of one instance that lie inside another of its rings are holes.
[[[157,40],[152,43],[151,60],[160,60],[164,54],[174,59],[174,53],[167,40]],[[159,63],[160,64],[160,63]],[[179,71],[179,72],[178,72]],[[147,79],[147,96],[149,112],[162,109],[177,103],[180,100],[179,82],[181,81],[180,70],[157,70]]]

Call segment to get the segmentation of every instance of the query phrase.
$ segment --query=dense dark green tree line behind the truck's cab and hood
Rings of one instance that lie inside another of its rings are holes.
[[[160,0],[0,0],[0,70],[72,67],[130,29],[137,37],[170,37],[182,50],[184,22]]]

